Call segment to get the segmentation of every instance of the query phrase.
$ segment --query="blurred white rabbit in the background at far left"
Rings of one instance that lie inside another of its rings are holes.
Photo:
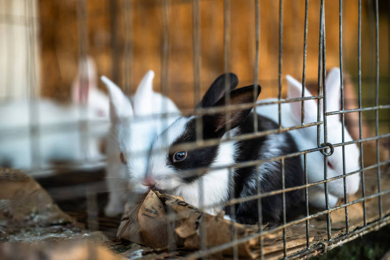
[[[89,84],[85,105],[80,104],[78,95],[79,77],[72,87],[71,104],[38,99],[7,101],[0,105],[0,166],[28,170],[48,167],[52,161],[103,158],[100,146],[108,132],[108,96],[96,87],[92,60],[87,61],[87,66]],[[30,112],[34,113],[35,121],[30,122]],[[84,133],[79,129],[80,120],[87,121]],[[38,125],[38,137],[30,135],[30,123]],[[86,145],[82,146],[81,142]]]

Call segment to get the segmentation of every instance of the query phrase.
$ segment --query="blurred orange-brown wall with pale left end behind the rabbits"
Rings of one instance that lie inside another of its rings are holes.
[[[147,70],[160,89],[164,33],[168,35],[168,94],[180,107],[193,107],[192,1],[0,0],[0,98],[37,95],[70,100],[80,61],[92,57],[98,76],[106,75],[131,94]],[[308,1],[307,82],[318,73],[319,0]],[[326,1],[327,69],[339,66],[339,2]],[[261,98],[277,95],[277,1],[259,1],[258,82]],[[254,1],[230,1],[229,68],[240,85],[251,84],[255,62]],[[302,79],[305,1],[284,1],[282,75]],[[202,93],[224,71],[223,1],[200,1]],[[379,1],[380,103],[388,103],[389,4]],[[358,2],[343,1],[344,72],[354,89],[358,76]],[[362,1],[363,106],[375,99],[374,1]],[[102,82],[99,88],[105,91]],[[285,93],[283,86],[283,95]],[[201,94],[202,94],[201,93]],[[346,96],[348,99],[354,96]],[[382,111],[381,111],[382,112]],[[387,111],[386,111],[387,112]],[[387,113],[388,114],[388,113]],[[370,120],[371,115],[368,116]],[[380,115],[382,122],[388,116]],[[381,126],[382,127],[382,126]],[[384,126],[383,126],[384,127]],[[388,129],[388,128],[387,128]]]

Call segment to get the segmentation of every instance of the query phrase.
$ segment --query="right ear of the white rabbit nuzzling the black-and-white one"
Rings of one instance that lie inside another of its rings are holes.
[[[137,87],[133,102],[135,115],[147,115],[153,112],[153,106],[156,105],[153,104],[153,78],[154,72],[148,71]]]

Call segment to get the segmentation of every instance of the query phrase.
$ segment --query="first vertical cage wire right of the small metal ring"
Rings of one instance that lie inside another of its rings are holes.
[[[340,91],[341,91],[341,110],[344,110],[344,82],[343,82],[343,1],[339,0],[339,57],[340,57]],[[345,114],[341,114],[341,140],[345,142],[344,136]],[[344,203],[348,203],[347,183],[345,178],[345,146],[342,146],[343,153],[343,184],[344,184]],[[349,233],[348,207],[345,207],[345,229]]]

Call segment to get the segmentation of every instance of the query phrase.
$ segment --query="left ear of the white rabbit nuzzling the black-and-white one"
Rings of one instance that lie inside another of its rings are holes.
[[[120,90],[120,88],[106,76],[102,76],[101,80],[106,84],[110,95],[110,117],[113,122],[119,121],[123,117],[133,116],[133,107]]]

